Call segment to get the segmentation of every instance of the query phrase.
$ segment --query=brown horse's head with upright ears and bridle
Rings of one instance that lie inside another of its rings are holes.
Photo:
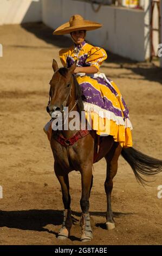
[[[51,115],[55,111],[62,111],[67,106],[73,83],[73,72],[76,68],[74,63],[70,68],[58,68],[57,62],[53,60],[54,75],[51,78],[49,102],[47,112]]]

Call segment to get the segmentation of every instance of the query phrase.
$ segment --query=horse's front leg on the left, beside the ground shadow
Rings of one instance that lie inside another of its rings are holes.
[[[54,164],[55,174],[60,182],[62,190],[62,200],[64,205],[63,211],[63,223],[59,231],[58,239],[67,239],[70,236],[70,229],[72,228],[72,216],[70,210],[70,194],[69,194],[69,178],[68,174],[64,174],[60,165],[55,162]]]

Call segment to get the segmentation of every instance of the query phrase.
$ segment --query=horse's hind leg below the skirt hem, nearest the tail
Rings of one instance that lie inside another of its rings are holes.
[[[111,206],[111,193],[113,190],[113,178],[116,175],[118,169],[118,158],[120,156],[121,149],[121,146],[118,145],[118,143],[114,142],[112,149],[105,156],[107,162],[107,172],[105,180],[105,192],[107,196],[106,228],[108,230],[115,228]]]

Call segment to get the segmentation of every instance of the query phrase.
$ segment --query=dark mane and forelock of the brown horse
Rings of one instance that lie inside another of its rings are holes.
[[[59,70],[60,75],[66,77],[68,73],[67,68],[60,68]],[[79,83],[76,80],[76,76],[73,75],[73,81],[75,86],[75,99],[77,100],[77,111],[81,115],[81,112],[84,111],[83,101],[82,101],[82,89],[79,86]]]

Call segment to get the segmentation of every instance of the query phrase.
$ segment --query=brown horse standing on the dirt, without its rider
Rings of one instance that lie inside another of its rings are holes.
[[[83,111],[82,94],[73,71],[76,68],[74,63],[70,68],[58,68],[57,62],[53,60],[54,75],[50,81],[49,103],[47,112],[53,115],[58,111],[63,113],[64,107],[68,106],[69,112],[73,110],[79,113]],[[68,119],[68,123],[72,118]],[[86,127],[87,127],[86,123]],[[63,126],[64,128],[64,126]],[[58,238],[66,239],[70,235],[72,227],[72,217],[70,211],[70,194],[68,173],[72,170],[78,170],[81,173],[81,241],[92,239],[92,229],[90,227],[89,216],[89,196],[93,184],[92,166],[94,162],[98,162],[105,157],[107,162],[107,172],[105,180],[105,192],[107,196],[107,212],[106,212],[106,228],[113,229],[115,227],[113,220],[113,212],[111,208],[111,193],[113,188],[113,178],[118,168],[118,157],[121,154],[130,164],[135,177],[142,184],[145,179],[140,174],[154,175],[161,171],[162,161],[153,159],[147,155],[140,153],[134,148],[121,148],[118,142],[114,142],[113,136],[106,136],[99,139],[96,133],[85,130],[81,134],[80,127],[74,130],[63,129],[52,131],[50,145],[54,155],[54,170],[57,179],[60,182],[62,190],[62,200],[64,205],[64,218]],[[77,136],[76,136],[77,134]],[[80,136],[78,136],[80,135]],[[77,139],[76,139],[77,137]],[[73,138],[73,139],[70,139]],[[97,147],[100,140],[100,149]],[[97,146],[96,146],[97,145]],[[98,148],[99,150],[96,150]],[[95,159],[94,159],[94,153]]]

